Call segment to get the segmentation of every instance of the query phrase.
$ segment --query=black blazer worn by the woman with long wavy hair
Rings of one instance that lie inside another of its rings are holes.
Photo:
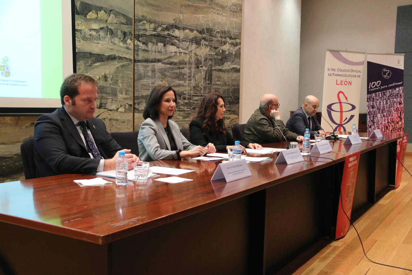
[[[226,134],[222,135],[220,132],[215,132],[213,136],[210,132],[206,132],[203,129],[203,120],[197,118],[192,120],[189,124],[190,130],[190,142],[194,145],[206,146],[208,143],[213,143],[215,145],[216,151],[226,152],[226,146],[234,145],[234,137],[227,131]],[[240,144],[247,148],[248,141],[241,141]]]

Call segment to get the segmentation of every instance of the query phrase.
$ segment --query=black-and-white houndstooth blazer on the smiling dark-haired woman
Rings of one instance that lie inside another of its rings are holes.
[[[196,147],[180,133],[176,122],[168,120],[167,123],[178,149],[191,150]],[[137,143],[139,146],[139,158],[142,161],[179,159],[176,151],[170,150],[169,139],[162,122],[158,118],[147,118],[143,121],[142,125],[140,125]]]

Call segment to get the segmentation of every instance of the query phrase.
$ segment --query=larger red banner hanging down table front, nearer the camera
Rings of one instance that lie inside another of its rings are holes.
[[[341,195],[339,196],[339,206],[337,209],[335,239],[345,237],[349,230],[350,222],[346,215],[351,219],[353,195],[355,193],[356,176],[358,174],[358,164],[361,152],[356,152],[345,157],[345,166],[342,175]],[[342,200],[343,203],[342,203]],[[343,208],[343,209],[342,209]],[[345,212],[343,212],[343,210]],[[345,215],[346,213],[346,215]]]

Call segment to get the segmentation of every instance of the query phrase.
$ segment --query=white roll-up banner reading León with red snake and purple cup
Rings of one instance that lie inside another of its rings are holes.
[[[359,121],[364,52],[326,50],[322,115],[335,131],[350,131]],[[326,132],[330,126],[322,120]]]

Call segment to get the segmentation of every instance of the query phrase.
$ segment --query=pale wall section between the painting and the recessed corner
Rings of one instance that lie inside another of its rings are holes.
[[[243,0],[239,123],[260,97],[279,97],[281,118],[298,107],[300,0]]]

